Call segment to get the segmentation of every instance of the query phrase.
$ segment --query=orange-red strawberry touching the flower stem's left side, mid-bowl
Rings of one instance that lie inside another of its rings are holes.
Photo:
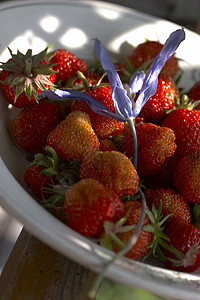
[[[139,184],[132,162],[117,151],[96,151],[86,156],[81,164],[80,178],[94,178],[120,197],[134,195]]]

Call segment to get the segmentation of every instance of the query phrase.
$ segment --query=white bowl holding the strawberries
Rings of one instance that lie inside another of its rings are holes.
[[[145,38],[164,43],[180,26],[108,3],[53,0],[2,3],[0,27],[0,61],[6,61],[7,46],[14,53],[28,48],[37,53],[49,43],[90,59],[95,37],[103,42],[113,59],[120,58],[128,51],[127,43],[135,46]],[[200,80],[199,50],[199,36],[186,30],[186,40],[176,53],[184,69],[180,86],[185,90]],[[7,130],[18,109],[10,108],[2,94],[0,103],[0,205],[41,241],[99,272],[113,254],[62,224],[27,192],[23,175],[28,162],[12,143]],[[200,298],[198,274],[173,272],[159,265],[122,258],[109,268],[107,276],[164,297]]]

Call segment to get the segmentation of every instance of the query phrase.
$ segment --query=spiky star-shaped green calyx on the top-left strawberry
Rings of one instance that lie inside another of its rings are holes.
[[[24,91],[30,100],[33,97],[37,101],[38,89],[45,90],[45,85],[53,86],[49,75],[56,73],[52,70],[55,64],[43,62],[47,57],[48,47],[36,55],[32,55],[32,50],[27,50],[26,54],[19,50],[13,54],[8,48],[11,59],[1,63],[0,68],[10,72],[8,77],[2,82],[10,87],[16,87],[15,101]]]

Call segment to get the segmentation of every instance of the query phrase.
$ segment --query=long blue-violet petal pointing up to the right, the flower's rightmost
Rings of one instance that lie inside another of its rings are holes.
[[[153,96],[157,89],[158,75],[164,67],[166,61],[173,55],[179,44],[185,39],[184,29],[178,29],[171,33],[165,42],[162,50],[156,56],[151,64],[147,75],[144,79],[138,99],[136,101],[133,116],[136,117],[148,99]]]

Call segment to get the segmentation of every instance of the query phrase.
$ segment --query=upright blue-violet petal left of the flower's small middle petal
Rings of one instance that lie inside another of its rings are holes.
[[[95,39],[94,51],[102,68],[107,72],[109,83],[112,88],[115,111],[121,117],[126,119],[131,115],[132,103],[127,96],[126,90],[124,90],[119,74],[115,70],[103,44],[98,39]]]

